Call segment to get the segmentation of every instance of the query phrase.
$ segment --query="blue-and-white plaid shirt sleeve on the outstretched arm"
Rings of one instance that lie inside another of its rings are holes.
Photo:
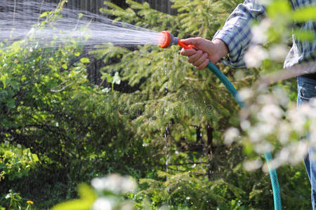
[[[246,67],[244,54],[251,41],[251,21],[261,20],[265,8],[257,0],[246,0],[235,8],[226,20],[223,29],[216,32],[213,40],[221,39],[228,45],[229,54],[222,61],[235,68]]]

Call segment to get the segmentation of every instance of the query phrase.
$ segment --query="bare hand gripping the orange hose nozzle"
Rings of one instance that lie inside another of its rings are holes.
[[[187,56],[187,61],[194,64],[197,69],[205,69],[209,61],[213,64],[227,55],[229,50],[227,45],[220,39],[209,41],[205,38],[187,38],[181,40],[185,45],[195,45],[196,50],[181,50],[181,55]]]

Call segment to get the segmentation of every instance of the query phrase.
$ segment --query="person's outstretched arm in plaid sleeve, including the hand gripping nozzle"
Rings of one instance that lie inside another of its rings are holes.
[[[252,20],[261,20],[264,16],[264,6],[259,4],[257,0],[246,0],[230,14],[223,29],[216,32],[212,41],[204,38],[183,40],[187,45],[195,45],[197,51],[182,50],[181,55],[188,56],[188,61],[195,64],[198,69],[204,69],[207,65],[206,59],[216,63],[228,54],[223,52],[229,52],[223,59],[225,64],[233,67],[245,67],[243,57],[251,41],[251,22]]]

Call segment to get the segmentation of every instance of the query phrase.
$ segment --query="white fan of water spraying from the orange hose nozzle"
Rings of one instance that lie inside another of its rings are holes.
[[[0,42],[10,44],[29,38],[29,43],[36,43],[40,48],[60,43],[67,45],[72,41],[79,45],[157,45],[157,31],[123,22],[114,23],[103,15],[87,11],[60,10],[60,6],[44,1],[0,1]],[[55,13],[60,18],[53,17]],[[47,20],[46,25],[41,24],[44,20]]]

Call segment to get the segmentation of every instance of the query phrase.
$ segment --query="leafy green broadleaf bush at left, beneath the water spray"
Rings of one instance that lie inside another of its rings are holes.
[[[40,27],[55,18],[58,11]],[[24,160],[19,162],[28,176],[17,181],[20,175],[11,170],[14,180],[1,181],[0,193],[12,188],[32,196],[39,208],[77,196],[77,182],[111,171],[140,176],[143,165],[154,165],[150,148],[144,149],[126,117],[111,109],[118,106],[119,94],[88,83],[88,59],[79,57],[82,48],[72,43],[37,48],[26,38],[0,49],[1,140],[29,148],[27,155],[39,158],[30,171]],[[11,153],[4,150],[6,156]]]

